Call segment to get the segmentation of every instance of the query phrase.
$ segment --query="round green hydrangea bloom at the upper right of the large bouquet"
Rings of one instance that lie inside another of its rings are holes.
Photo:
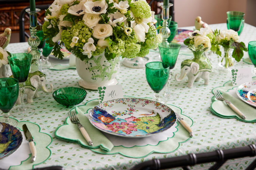
[[[131,12],[136,18],[149,18],[151,17],[151,9],[147,2],[145,1],[135,1],[133,6],[130,8]]]

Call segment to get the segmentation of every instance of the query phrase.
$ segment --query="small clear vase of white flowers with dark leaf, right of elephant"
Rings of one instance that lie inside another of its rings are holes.
[[[224,55],[221,56],[221,52],[217,53],[219,56],[219,65],[221,66],[220,71],[224,73],[231,72],[229,67],[234,65],[234,59],[240,61],[243,57],[243,51],[247,51],[243,42],[238,42],[238,33],[234,30],[215,30],[214,33],[217,35],[216,40],[224,48]],[[232,55],[231,49],[233,50]]]

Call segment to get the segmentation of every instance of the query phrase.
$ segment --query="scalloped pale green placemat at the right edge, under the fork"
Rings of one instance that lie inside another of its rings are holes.
[[[253,77],[253,80],[256,80],[256,77]],[[232,81],[227,81],[223,84],[223,86],[216,87],[212,89],[213,90],[220,90],[223,92],[223,97],[227,100],[231,101],[241,112],[244,113],[246,116],[246,119],[242,119],[239,117],[233,110],[231,110],[223,101],[217,100],[215,96],[212,97],[212,104],[210,106],[211,112],[219,117],[222,118],[236,118],[243,122],[253,123],[256,122],[256,108],[246,104],[240,99],[237,99],[225,92],[228,92],[229,90],[233,90],[237,88],[232,85]]]

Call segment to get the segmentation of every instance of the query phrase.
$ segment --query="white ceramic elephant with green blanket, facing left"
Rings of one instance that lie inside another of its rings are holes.
[[[202,57],[200,60],[193,58],[181,62],[180,76],[175,75],[176,81],[181,81],[186,75],[188,76],[187,87],[193,87],[194,81],[199,81],[200,78],[204,79],[205,84],[209,84],[209,74],[212,70],[209,59]]]

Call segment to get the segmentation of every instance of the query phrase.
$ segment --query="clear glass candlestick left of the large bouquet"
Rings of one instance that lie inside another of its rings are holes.
[[[30,72],[33,73],[39,70],[39,59],[40,59],[40,52],[38,51],[37,46],[40,44],[40,39],[36,36],[36,26],[37,26],[37,12],[41,11],[37,9],[35,11],[31,11],[27,9],[26,12],[29,13],[29,21],[30,21],[30,34],[31,36],[28,39],[28,44],[31,46],[31,51],[29,52],[32,54],[32,62],[31,62],[31,70]]]

